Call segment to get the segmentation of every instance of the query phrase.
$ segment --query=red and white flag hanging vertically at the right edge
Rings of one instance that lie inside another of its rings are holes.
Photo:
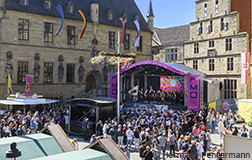
[[[250,53],[241,53],[241,84],[248,84]]]

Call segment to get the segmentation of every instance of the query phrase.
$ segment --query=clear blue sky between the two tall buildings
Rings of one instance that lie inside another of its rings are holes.
[[[135,0],[146,18],[150,0]],[[152,0],[154,26],[168,28],[195,21],[195,0]]]

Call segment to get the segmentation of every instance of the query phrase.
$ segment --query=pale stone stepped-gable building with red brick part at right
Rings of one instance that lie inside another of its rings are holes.
[[[241,53],[251,50],[251,0],[195,3],[196,21],[189,24],[183,63],[205,72],[207,78],[218,79],[221,98],[251,98],[251,78],[247,87],[241,84]]]

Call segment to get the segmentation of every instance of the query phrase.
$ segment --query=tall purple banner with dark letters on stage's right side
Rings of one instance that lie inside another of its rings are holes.
[[[200,107],[200,76],[188,75],[188,108],[189,110]]]

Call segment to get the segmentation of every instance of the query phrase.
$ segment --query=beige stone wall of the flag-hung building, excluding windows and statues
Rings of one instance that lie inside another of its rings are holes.
[[[28,19],[29,24],[29,41],[18,40],[18,19]],[[17,64],[19,61],[28,62],[28,74],[33,75],[33,68],[35,64],[35,53],[39,53],[40,60],[36,61],[40,65],[40,76],[38,83],[33,82],[32,93],[49,94],[51,97],[58,97],[58,95],[64,97],[64,99],[71,98],[78,93],[85,91],[85,81],[88,75],[93,74],[96,78],[97,88],[108,88],[108,81],[104,81],[102,68],[103,65],[92,67],[88,62],[92,57],[91,51],[95,46],[98,51],[110,51],[117,52],[117,31],[122,28],[112,27],[108,25],[99,25],[88,23],[84,36],[81,40],[77,40],[78,35],[83,28],[82,21],[75,21],[65,19],[62,31],[57,37],[53,38],[53,43],[44,43],[44,22],[53,23],[53,35],[56,34],[60,25],[61,18],[48,17],[36,14],[29,14],[16,11],[7,11],[6,16],[2,19],[2,43],[0,44],[0,88],[2,88],[2,94],[0,98],[5,98],[7,88],[7,74],[4,71],[7,63],[6,53],[12,52],[12,59],[10,60],[12,71],[12,84],[15,92],[24,93],[25,84],[17,83]],[[67,26],[75,26],[75,45],[67,45]],[[96,29],[94,29],[96,28]],[[109,31],[115,32],[116,45],[115,49],[108,49]],[[149,60],[151,58],[151,37],[150,32],[141,32],[143,37],[143,49],[137,51],[133,46],[137,38],[136,30],[127,30],[126,34],[130,34],[130,49],[124,50],[121,45],[121,53],[136,53],[136,61]],[[98,45],[92,45],[94,35],[98,40]],[[59,55],[62,55],[64,61],[63,81],[58,81],[58,62]],[[79,58],[83,56],[84,62],[80,63]],[[53,83],[43,82],[43,68],[44,62],[53,62]],[[67,64],[75,64],[75,78],[74,83],[66,82]],[[78,68],[82,65],[85,69],[84,78],[82,82],[79,82]],[[109,68],[109,67],[108,67]],[[110,71],[109,71],[110,72]]]

